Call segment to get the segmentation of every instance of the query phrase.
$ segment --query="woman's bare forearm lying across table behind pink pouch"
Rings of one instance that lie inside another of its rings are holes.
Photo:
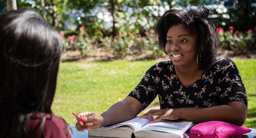
[[[247,117],[246,105],[236,101],[210,108],[179,108],[174,110],[179,114],[179,118],[198,123],[217,120],[242,126]]]

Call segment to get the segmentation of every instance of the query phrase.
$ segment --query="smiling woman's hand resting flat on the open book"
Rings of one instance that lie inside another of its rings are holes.
[[[154,123],[158,120],[177,120],[179,119],[178,113],[175,109],[159,109],[159,110],[149,110],[146,114],[141,115],[140,118],[148,118],[150,116],[158,116],[150,123]]]

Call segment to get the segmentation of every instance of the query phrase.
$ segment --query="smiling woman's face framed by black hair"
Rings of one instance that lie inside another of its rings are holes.
[[[165,50],[177,67],[191,67],[196,63],[198,38],[183,24],[173,25],[167,31]]]

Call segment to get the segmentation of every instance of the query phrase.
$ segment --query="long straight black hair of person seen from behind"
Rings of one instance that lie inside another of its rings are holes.
[[[62,37],[40,14],[0,14],[0,137],[29,137],[36,112],[52,114]],[[41,137],[41,136],[38,136]]]

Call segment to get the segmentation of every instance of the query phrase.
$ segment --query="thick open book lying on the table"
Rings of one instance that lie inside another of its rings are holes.
[[[116,125],[90,129],[89,138],[94,137],[112,137],[112,138],[186,138],[184,132],[193,123],[191,121],[169,121],[159,120],[148,124],[154,117],[139,118],[121,122]]]

